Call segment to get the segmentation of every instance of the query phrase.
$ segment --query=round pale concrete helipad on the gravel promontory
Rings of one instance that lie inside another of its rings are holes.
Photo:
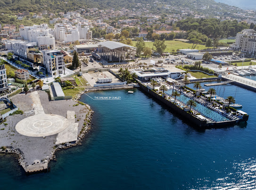
[[[30,137],[44,137],[57,134],[69,125],[68,120],[55,114],[36,114],[27,117],[16,125],[18,133]]]

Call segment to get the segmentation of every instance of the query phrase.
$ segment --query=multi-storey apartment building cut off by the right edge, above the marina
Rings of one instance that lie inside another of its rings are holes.
[[[237,33],[236,42],[230,48],[256,55],[256,31],[245,29]]]

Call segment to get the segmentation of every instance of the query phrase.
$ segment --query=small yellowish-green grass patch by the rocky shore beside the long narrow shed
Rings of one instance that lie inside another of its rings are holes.
[[[75,79],[75,83],[77,84],[76,88],[74,88],[73,86],[66,86],[66,87],[62,88],[65,96],[72,96],[74,98],[79,92],[84,91],[86,83],[87,83],[87,81],[84,79],[84,77],[83,76],[76,76],[76,77],[74,76],[74,79]]]

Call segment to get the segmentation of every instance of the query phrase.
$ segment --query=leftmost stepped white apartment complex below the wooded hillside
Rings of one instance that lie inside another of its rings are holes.
[[[40,50],[55,48],[55,38],[47,24],[25,26],[19,30],[22,39],[36,42]]]

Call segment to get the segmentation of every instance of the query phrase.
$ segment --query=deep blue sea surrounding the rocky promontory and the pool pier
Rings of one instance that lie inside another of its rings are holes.
[[[249,114],[247,124],[194,129],[139,89],[88,93],[121,100],[83,95],[95,111],[83,145],[57,152],[50,173],[30,176],[12,157],[0,156],[1,189],[255,189],[256,94],[233,85],[218,88],[224,97],[236,94]]]

